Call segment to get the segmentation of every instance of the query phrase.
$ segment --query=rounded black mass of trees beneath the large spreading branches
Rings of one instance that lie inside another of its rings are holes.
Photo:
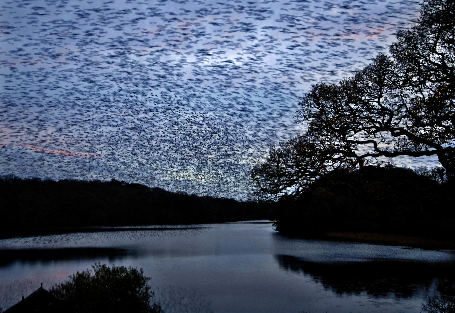
[[[400,167],[336,170],[272,211],[277,230],[298,235],[375,232],[454,240],[454,180]]]

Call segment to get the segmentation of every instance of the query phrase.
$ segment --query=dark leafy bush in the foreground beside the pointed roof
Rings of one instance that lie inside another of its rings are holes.
[[[50,292],[77,313],[163,313],[160,305],[151,303],[149,280],[142,268],[95,263],[92,270],[73,274]]]

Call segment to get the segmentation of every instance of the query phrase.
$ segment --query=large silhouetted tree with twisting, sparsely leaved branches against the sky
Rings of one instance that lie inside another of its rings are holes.
[[[418,22],[338,84],[303,96],[297,121],[308,130],[270,150],[251,177],[268,199],[298,196],[337,168],[378,157],[436,155],[455,173],[455,1],[427,0]]]

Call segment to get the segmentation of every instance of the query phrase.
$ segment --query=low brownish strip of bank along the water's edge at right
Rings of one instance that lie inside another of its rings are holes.
[[[371,232],[326,232],[324,233],[324,238],[329,240],[373,242],[391,246],[418,247],[424,249],[455,249],[455,241]]]

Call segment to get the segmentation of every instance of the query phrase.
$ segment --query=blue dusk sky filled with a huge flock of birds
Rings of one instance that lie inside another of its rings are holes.
[[[418,8],[412,0],[6,1],[1,174],[245,197],[251,164],[298,133],[293,113],[310,84],[386,52]]]

